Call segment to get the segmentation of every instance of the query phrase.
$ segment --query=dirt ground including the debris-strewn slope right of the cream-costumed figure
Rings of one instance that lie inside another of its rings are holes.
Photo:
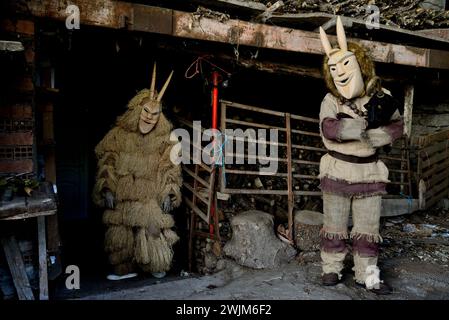
[[[252,270],[227,260],[225,270],[199,276],[183,274],[162,280],[151,276],[112,282],[82,279],[81,289],[62,286],[56,299],[449,299],[448,211],[435,209],[382,221],[381,276],[394,288],[376,296],[356,286],[351,256],[343,282],[320,284],[319,253],[300,253],[277,270]]]

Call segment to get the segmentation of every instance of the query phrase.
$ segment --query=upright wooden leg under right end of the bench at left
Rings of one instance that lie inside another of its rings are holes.
[[[39,300],[48,300],[47,236],[45,216],[37,218],[37,242],[39,251]]]

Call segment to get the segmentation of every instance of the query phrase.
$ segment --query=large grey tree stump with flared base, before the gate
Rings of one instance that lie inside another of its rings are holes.
[[[255,269],[276,268],[291,260],[296,250],[274,233],[273,216],[250,210],[231,219],[232,239],[224,253],[238,264]]]

